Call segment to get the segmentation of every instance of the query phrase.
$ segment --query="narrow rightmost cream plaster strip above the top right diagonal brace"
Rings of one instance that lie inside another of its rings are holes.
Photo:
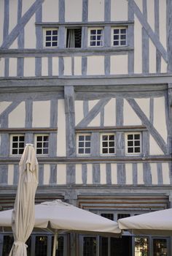
[[[167,49],[167,29],[166,29],[166,1],[160,0],[160,42],[163,44],[163,47]]]

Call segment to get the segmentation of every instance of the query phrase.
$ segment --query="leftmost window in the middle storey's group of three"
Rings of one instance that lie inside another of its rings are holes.
[[[77,154],[90,154],[90,140],[89,133],[77,135]]]

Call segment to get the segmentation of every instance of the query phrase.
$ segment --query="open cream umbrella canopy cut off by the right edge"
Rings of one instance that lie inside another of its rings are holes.
[[[172,236],[172,208],[118,219],[118,223],[120,229],[136,235]]]

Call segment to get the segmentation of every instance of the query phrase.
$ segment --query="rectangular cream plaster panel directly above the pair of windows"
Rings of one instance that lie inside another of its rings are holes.
[[[33,102],[32,127],[50,127],[50,100]]]

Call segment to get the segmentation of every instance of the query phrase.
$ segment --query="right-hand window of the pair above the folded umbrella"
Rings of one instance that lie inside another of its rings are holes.
[[[35,136],[36,154],[44,155],[49,153],[49,135]]]

